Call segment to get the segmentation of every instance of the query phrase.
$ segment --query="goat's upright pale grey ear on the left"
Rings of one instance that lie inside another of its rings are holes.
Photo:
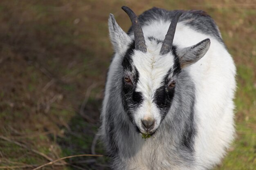
[[[131,38],[117,24],[114,15],[110,13],[108,18],[108,30],[114,50],[122,54],[126,51]]]

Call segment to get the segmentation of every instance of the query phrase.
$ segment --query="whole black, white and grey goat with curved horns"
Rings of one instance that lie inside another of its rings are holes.
[[[204,11],[122,9],[132,26],[125,33],[109,16],[101,112],[112,169],[213,168],[235,133],[236,67],[218,26]]]

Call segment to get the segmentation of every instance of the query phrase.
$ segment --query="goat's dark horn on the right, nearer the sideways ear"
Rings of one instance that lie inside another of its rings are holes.
[[[164,42],[160,51],[161,55],[169,53],[173,47],[173,38],[174,38],[175,29],[177,26],[177,22],[180,18],[180,15],[182,15],[182,12],[177,11],[175,16],[173,17],[173,20],[171,21],[171,24],[169,26],[167,34],[165,35]]]

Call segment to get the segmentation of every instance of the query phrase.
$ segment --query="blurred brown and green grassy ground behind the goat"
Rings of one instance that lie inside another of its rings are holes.
[[[0,0],[0,169],[31,170],[61,157],[105,154],[100,126],[112,56],[108,15],[121,6],[201,9],[216,21],[237,67],[236,141],[216,170],[256,167],[255,0]],[[107,170],[108,158],[75,157],[44,170]]]

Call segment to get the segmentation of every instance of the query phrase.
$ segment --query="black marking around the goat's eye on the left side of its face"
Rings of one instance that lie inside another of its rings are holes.
[[[124,110],[126,111],[130,121],[134,123],[132,114],[135,113],[135,110],[141,105],[143,97],[141,92],[135,91],[137,87],[137,82],[139,79],[139,72],[132,65],[132,54],[135,49],[134,42],[130,44],[129,49],[127,50],[122,66],[124,67],[124,72],[129,72],[130,78],[132,79],[132,84],[129,84],[125,81],[122,82],[122,102]],[[133,73],[133,74],[132,74]],[[135,73],[135,74],[134,74]]]

